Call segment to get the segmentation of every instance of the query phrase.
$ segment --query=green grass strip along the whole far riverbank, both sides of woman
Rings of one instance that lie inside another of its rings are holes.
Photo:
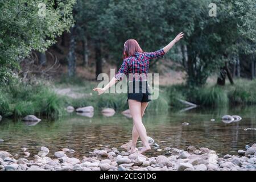
[[[60,96],[53,91],[56,88],[72,88],[75,93],[85,94],[79,98]],[[93,106],[95,110],[111,107],[117,111],[128,109],[126,94],[102,94],[98,96],[92,88],[97,82],[85,81],[79,78],[57,83],[38,81],[37,84],[28,84],[14,81],[0,88],[0,115],[5,117],[24,117],[28,114],[58,117],[67,114],[65,107]],[[186,85],[162,86],[159,88],[159,97],[148,105],[150,111],[166,112],[170,107],[180,109],[185,107],[177,99],[186,100],[197,105],[207,107],[222,107],[226,105],[256,104],[256,81],[235,80],[235,85],[227,84],[224,87],[206,85],[201,88],[188,88]]]

